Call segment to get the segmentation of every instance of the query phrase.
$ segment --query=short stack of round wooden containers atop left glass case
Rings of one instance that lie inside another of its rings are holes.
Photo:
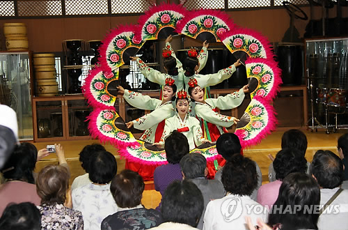
[[[8,51],[28,50],[28,38],[24,23],[4,23],[3,33],[6,37],[6,49]]]

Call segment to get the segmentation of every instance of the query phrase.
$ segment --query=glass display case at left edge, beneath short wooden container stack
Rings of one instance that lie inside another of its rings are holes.
[[[20,140],[33,139],[29,52],[0,52],[0,103],[17,113]]]

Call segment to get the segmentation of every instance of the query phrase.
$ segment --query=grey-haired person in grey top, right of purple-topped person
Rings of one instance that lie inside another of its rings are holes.
[[[187,181],[193,182],[203,194],[204,210],[198,222],[198,229],[203,229],[203,217],[207,204],[212,199],[220,199],[225,196],[225,190],[220,181],[208,180],[207,160],[200,153],[191,153],[184,155],[180,160],[182,175]]]

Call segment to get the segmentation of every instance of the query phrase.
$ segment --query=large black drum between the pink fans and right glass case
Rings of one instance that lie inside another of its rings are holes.
[[[299,86],[303,77],[303,48],[301,45],[278,46],[279,68],[283,86]]]

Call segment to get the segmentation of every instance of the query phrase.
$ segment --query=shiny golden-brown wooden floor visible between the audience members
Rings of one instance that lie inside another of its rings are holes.
[[[267,157],[269,153],[272,155],[276,155],[278,151],[280,151],[280,141],[283,133],[286,131],[286,128],[281,128],[275,132],[272,132],[271,135],[267,136],[266,139],[262,140],[260,144],[257,146],[253,146],[244,150],[244,155],[255,162],[258,162],[260,169],[262,171],[262,182],[267,183],[267,172],[269,164],[271,160]],[[310,132],[310,130],[306,130],[305,128],[301,128],[301,130],[306,134],[308,139],[308,148],[306,152],[306,159],[308,162],[313,160],[313,155],[319,149],[330,150],[333,153],[337,154],[337,140],[340,135],[347,132],[347,130],[339,130],[339,132],[331,133],[327,135],[324,130],[318,130],[318,132]],[[84,169],[81,168],[81,164],[79,162],[79,152],[84,146],[87,144],[99,143],[98,140],[86,140],[86,141],[63,141],[61,144],[65,149],[65,157],[67,158],[68,164],[70,166],[70,170],[72,176],[70,178],[70,183],[74,180],[75,177],[84,174]],[[47,142],[34,143],[38,149],[45,148]],[[118,172],[122,171],[125,168],[125,160],[120,159],[118,155],[117,149],[111,146],[110,144],[104,144],[107,151],[116,155],[116,160],[118,163]],[[56,156],[54,154],[47,156],[38,162],[36,171],[39,171],[47,164],[56,164]],[[146,208],[155,208],[159,204],[161,199],[161,194],[152,190],[152,184],[147,183],[147,190],[144,191],[142,203]]]

